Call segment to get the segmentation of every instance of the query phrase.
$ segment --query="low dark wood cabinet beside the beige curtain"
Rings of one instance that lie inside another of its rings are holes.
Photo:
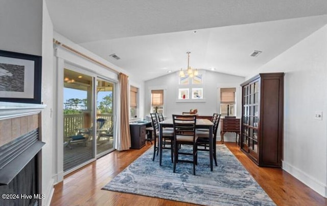
[[[141,121],[129,124],[132,149],[141,149],[145,146],[147,125],[151,125],[151,122]]]

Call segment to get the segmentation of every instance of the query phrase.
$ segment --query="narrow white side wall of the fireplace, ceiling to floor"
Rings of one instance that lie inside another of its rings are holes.
[[[42,21],[42,95],[41,101],[46,104],[42,111],[42,141],[46,144],[42,148],[42,193],[45,199],[42,205],[50,205],[53,189],[52,167],[49,161],[53,157],[53,24],[49,16],[46,3],[43,0]]]

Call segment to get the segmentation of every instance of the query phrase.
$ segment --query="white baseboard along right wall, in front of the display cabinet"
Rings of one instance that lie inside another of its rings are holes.
[[[307,185],[314,191],[316,191],[319,195],[323,197],[327,197],[327,186],[322,182],[318,181],[317,179],[313,178],[312,176],[308,175],[307,173],[299,170],[298,168],[292,166],[291,164],[282,161],[283,163],[283,170],[290,173],[296,179],[303,182],[303,184]]]

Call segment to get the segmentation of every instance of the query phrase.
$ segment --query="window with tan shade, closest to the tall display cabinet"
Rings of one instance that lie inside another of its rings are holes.
[[[220,88],[220,113],[222,116],[236,116],[236,88]]]

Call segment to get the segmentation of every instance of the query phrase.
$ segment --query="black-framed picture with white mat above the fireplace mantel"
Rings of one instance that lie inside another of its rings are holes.
[[[42,57],[0,50],[0,102],[41,104]]]

